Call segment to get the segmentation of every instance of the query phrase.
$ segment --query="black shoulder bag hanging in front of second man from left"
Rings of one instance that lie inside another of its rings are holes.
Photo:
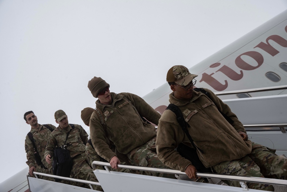
[[[72,129],[75,127],[73,124],[70,124]],[[54,156],[53,156],[53,174],[57,176],[62,177],[70,177],[72,168],[73,168],[73,160],[71,159],[69,150],[66,149],[66,146],[69,146],[71,144],[66,145],[69,133],[67,133],[66,140],[64,145],[61,147],[56,147],[54,150]],[[56,181],[60,181],[62,179],[55,178]]]

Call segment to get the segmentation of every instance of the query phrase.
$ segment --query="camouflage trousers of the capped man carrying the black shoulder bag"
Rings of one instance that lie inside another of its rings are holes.
[[[71,171],[71,177],[75,179],[98,182],[98,179],[96,178],[92,168],[86,162],[86,159],[82,157],[82,155],[77,155],[76,157],[73,158],[73,168]],[[87,184],[79,183],[79,185],[78,185],[79,187],[86,187],[90,189],[90,187]],[[98,185],[92,185],[92,187],[94,190],[103,191],[102,187]]]

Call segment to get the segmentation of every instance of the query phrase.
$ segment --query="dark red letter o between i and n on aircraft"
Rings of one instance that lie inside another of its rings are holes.
[[[252,65],[248,64],[243,59],[241,59],[241,56],[243,56],[243,55],[247,55],[247,56],[253,58],[258,63],[258,65],[252,66]],[[243,70],[254,70],[254,69],[257,69],[258,67],[260,67],[263,64],[263,61],[264,61],[263,56],[260,53],[258,53],[256,51],[249,51],[249,52],[245,52],[245,53],[239,55],[235,59],[235,64],[240,69],[243,69]]]

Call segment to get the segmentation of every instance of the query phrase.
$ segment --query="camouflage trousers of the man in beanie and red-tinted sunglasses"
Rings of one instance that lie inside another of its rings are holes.
[[[156,154],[156,137],[148,141],[146,144],[131,150],[127,153],[127,157],[130,159],[131,164],[136,166],[170,169],[158,159],[158,155]],[[176,179],[174,174],[156,172],[144,172],[144,174]]]

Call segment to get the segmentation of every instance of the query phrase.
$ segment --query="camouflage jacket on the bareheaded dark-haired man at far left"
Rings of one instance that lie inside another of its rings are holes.
[[[50,126],[54,130],[56,129],[56,127],[51,125],[51,124],[48,124],[48,126]],[[51,131],[49,130],[49,128],[39,124],[38,129],[31,128],[30,132],[32,133],[33,138],[35,140],[35,145],[36,145],[37,150],[39,152],[39,155],[41,157],[42,163],[44,164],[44,166],[46,168],[49,169],[51,167],[51,165],[47,164],[47,162],[45,160],[44,153],[45,153],[47,141],[48,141],[48,138],[51,134]],[[36,160],[35,160],[35,156],[34,156],[34,147],[33,147],[32,141],[30,140],[28,135],[26,135],[26,138],[25,138],[25,151],[27,153],[27,160],[28,160],[26,163],[29,166],[29,168],[36,167]]]

